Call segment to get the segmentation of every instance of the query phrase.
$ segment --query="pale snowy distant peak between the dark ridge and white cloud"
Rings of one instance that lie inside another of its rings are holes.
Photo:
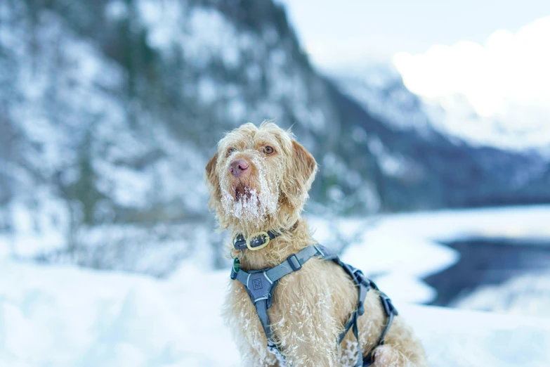
[[[537,103],[510,105],[506,113],[480,115],[461,94],[428,98],[414,94],[391,64],[329,70],[341,91],[360,102],[393,129],[437,131],[450,141],[516,152],[535,152],[550,159],[550,125]],[[420,83],[420,82],[417,82]],[[515,109],[514,109],[515,108]]]

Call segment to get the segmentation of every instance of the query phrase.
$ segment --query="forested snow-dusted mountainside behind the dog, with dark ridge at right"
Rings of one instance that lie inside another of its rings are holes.
[[[162,276],[200,240],[219,262],[204,165],[224,131],[274,118],[320,162],[315,212],[550,201],[537,155],[373,111],[272,1],[4,1],[0,251]]]

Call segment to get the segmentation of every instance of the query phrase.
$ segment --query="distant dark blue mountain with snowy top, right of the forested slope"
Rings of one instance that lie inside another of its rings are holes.
[[[537,150],[477,146],[445,133],[399,75],[378,66],[329,76],[343,119],[364,129],[389,210],[548,202],[550,162]],[[439,115],[443,115],[440,112]],[[360,147],[358,147],[360,151]]]

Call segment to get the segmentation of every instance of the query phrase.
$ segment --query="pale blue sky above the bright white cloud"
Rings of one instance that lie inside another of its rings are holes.
[[[548,0],[277,0],[318,67],[391,60],[434,44],[483,43],[550,15]]]

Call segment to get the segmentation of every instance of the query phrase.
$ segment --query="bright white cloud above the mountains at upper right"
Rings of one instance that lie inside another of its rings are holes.
[[[393,63],[410,91],[454,115],[445,122],[451,132],[485,131],[493,136],[481,141],[506,146],[550,144],[550,17],[515,34],[498,30],[484,46],[435,45],[423,54],[398,53]],[[472,119],[464,112],[467,104],[478,115],[475,122],[465,121]],[[472,129],[464,131],[468,125]]]

